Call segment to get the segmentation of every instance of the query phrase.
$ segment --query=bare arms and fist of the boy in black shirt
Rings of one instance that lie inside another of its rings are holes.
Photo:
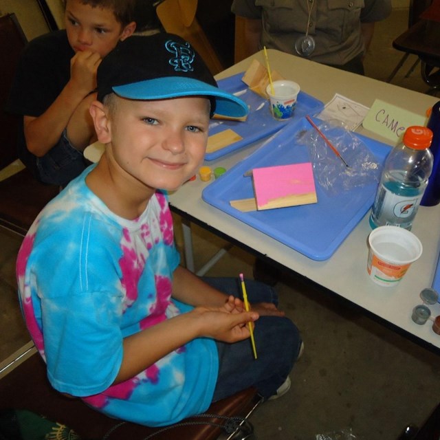
[[[100,55],[94,52],[76,53],[71,61],[70,79],[61,94],[39,117],[24,116],[25,140],[31,153],[39,157],[45,155],[58,142],[65,128],[76,148],[87,146],[92,127],[88,107],[94,99],[93,95],[88,95],[96,88],[100,61]]]

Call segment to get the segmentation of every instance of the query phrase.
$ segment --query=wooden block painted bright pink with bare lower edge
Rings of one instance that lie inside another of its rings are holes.
[[[318,201],[311,162],[254,168],[252,181],[258,210]]]

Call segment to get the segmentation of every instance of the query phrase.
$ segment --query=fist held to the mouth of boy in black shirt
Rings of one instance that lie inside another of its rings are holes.
[[[70,80],[84,96],[96,89],[96,72],[102,58],[97,52],[76,52],[70,60]]]

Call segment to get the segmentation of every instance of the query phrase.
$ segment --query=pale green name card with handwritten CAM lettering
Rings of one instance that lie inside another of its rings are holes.
[[[426,124],[426,117],[401,109],[380,99],[375,100],[362,125],[365,129],[386,137],[393,145],[401,141],[408,126]]]

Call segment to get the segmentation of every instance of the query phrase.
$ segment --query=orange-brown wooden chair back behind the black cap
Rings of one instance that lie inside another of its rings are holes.
[[[196,11],[197,0],[164,0],[156,8],[164,30],[189,41],[215,75],[223,70],[223,65],[197,21]]]

